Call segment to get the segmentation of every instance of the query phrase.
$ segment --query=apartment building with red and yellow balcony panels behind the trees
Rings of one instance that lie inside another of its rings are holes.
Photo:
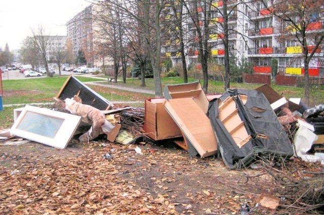
[[[190,18],[183,21],[184,29],[187,29],[186,44],[188,44],[186,53],[188,63],[199,64],[197,41],[198,37],[195,25],[204,28],[204,2],[200,3],[197,8],[200,21],[193,24]],[[206,3],[208,4],[208,3]],[[296,39],[282,39],[283,32],[289,28],[289,24],[279,21],[272,15],[271,1],[227,1],[228,13],[228,40],[229,40],[229,56],[232,62],[241,65],[242,61],[253,64],[256,73],[271,73],[271,63],[273,59],[277,62],[278,72],[286,74],[303,74],[304,64],[301,58],[302,47]],[[319,6],[324,7],[324,6]],[[208,7],[207,7],[208,8]],[[224,32],[222,17],[223,1],[213,1],[210,6],[209,22],[209,40],[208,44],[211,58],[216,59],[218,64],[224,64]],[[170,14],[173,14],[171,11]],[[314,13],[313,22],[306,29],[307,32],[319,31],[324,33],[323,20],[320,20],[319,13]],[[296,33],[294,29],[290,32]],[[324,43],[324,42],[323,42]],[[323,44],[322,43],[322,44]],[[170,56],[173,63],[179,63],[179,51],[177,44],[167,41],[165,44],[166,56]],[[314,41],[309,40],[309,53],[314,48]],[[309,63],[309,75],[324,75],[324,50],[319,47],[312,60]]]

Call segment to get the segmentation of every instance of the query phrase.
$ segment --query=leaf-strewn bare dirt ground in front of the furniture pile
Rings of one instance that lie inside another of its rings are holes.
[[[104,159],[106,153],[113,158]],[[0,146],[0,158],[3,214],[239,214],[263,191],[244,186],[244,176],[258,170],[229,170],[219,158],[190,157],[170,143],[71,139],[59,150],[31,142]]]

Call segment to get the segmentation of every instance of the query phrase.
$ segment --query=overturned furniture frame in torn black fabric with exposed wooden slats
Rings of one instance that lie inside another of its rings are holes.
[[[226,100],[234,101],[231,101],[233,107],[228,113],[222,108]],[[267,98],[259,91],[229,89],[219,99],[210,102],[208,114],[217,136],[218,149],[231,169],[248,166],[257,155],[284,159],[293,155],[287,133]],[[226,119],[227,116],[233,119]],[[231,122],[226,123],[226,120]],[[244,127],[239,127],[241,132],[233,136],[239,124]],[[236,138],[239,140],[235,141]]]

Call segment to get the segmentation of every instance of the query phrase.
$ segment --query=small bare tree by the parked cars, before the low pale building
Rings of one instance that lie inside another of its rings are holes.
[[[38,28],[36,30],[31,29],[31,33],[32,33],[32,37],[30,38],[34,46],[41,53],[43,62],[45,64],[47,76],[53,77],[53,73],[49,72],[49,66],[48,66],[48,56],[49,56],[49,51],[51,50],[51,38],[49,34],[46,32],[45,27],[42,25],[38,25]]]

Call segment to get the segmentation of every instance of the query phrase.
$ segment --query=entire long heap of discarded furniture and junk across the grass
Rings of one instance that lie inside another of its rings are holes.
[[[191,156],[221,156],[231,169],[293,155],[324,164],[324,105],[309,109],[267,84],[255,90],[228,89],[222,95],[206,95],[199,82],[170,84],[164,98],[147,99],[144,108],[115,108],[70,75],[55,99],[61,105],[51,109],[15,109],[7,139],[64,149],[72,137],[89,142],[103,134],[122,144],[147,137],[171,140]]]

